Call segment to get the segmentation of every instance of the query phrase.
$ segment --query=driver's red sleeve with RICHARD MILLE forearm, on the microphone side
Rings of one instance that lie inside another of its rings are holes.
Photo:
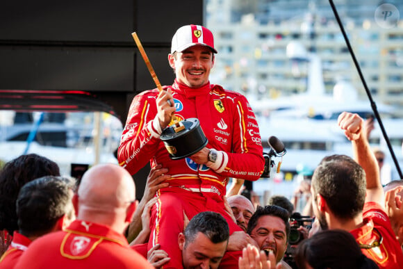
[[[265,163],[258,123],[244,96],[234,101],[232,152],[221,152],[222,167],[213,169],[227,177],[257,180]]]

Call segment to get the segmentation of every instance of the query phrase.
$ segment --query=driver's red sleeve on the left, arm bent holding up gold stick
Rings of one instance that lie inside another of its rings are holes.
[[[131,102],[117,152],[119,164],[130,174],[135,174],[149,162],[161,142],[161,128],[154,120],[157,95],[156,90],[142,92]]]

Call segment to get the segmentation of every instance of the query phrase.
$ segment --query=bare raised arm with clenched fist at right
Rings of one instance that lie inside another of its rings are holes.
[[[377,202],[384,208],[384,190],[379,168],[364,133],[363,119],[355,113],[343,112],[338,116],[338,126],[344,130],[347,139],[352,141],[354,159],[365,171],[367,181],[365,202]]]

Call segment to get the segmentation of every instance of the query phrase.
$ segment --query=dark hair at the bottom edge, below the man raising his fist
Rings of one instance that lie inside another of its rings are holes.
[[[298,268],[305,268],[305,263],[313,268],[378,268],[361,252],[354,236],[340,229],[319,231],[305,239],[294,259]]]

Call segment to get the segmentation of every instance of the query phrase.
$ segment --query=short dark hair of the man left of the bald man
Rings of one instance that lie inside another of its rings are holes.
[[[41,177],[22,186],[17,197],[20,234],[47,234],[65,214],[72,217],[74,182],[63,177]]]

